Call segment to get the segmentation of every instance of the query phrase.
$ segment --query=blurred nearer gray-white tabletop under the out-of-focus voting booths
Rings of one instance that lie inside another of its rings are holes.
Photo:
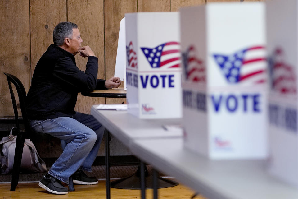
[[[135,140],[130,150],[209,199],[294,199],[298,189],[266,171],[265,160],[208,160],[182,138]]]

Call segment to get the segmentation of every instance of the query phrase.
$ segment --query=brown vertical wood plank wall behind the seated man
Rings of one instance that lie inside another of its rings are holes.
[[[52,32],[60,21],[79,26],[83,45],[98,57],[98,78],[114,75],[120,20],[128,12],[168,12],[206,2],[240,0],[0,0],[0,117],[13,116],[7,81],[2,72],[20,78],[28,92],[38,59],[52,43]],[[258,1],[258,0],[245,0]],[[3,28],[4,27],[4,28]],[[84,70],[86,58],[76,56]],[[76,110],[90,113],[92,104],[122,103],[124,99],[91,98],[79,95]]]

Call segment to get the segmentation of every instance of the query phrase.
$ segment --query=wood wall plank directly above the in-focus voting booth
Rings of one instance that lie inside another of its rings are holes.
[[[169,12],[170,0],[138,0],[138,12]]]

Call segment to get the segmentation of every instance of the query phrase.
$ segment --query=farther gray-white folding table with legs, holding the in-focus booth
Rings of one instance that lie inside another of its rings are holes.
[[[98,110],[98,105],[93,105],[91,114],[106,128],[106,198],[110,199],[110,148],[109,133],[111,132],[118,140],[130,148],[134,140],[178,138],[183,136],[182,131],[168,131],[164,126],[181,124],[181,119],[139,119],[127,111]],[[145,170],[143,162],[140,163],[141,170]],[[141,172],[141,174],[143,174]],[[163,180],[165,181],[165,180]],[[142,181],[143,183],[143,181]],[[141,183],[141,186],[144,184]],[[145,197],[145,187],[142,188],[142,198]]]

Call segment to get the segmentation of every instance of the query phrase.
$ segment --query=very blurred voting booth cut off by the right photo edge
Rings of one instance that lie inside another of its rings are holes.
[[[269,57],[269,172],[298,187],[298,1],[266,2]]]

